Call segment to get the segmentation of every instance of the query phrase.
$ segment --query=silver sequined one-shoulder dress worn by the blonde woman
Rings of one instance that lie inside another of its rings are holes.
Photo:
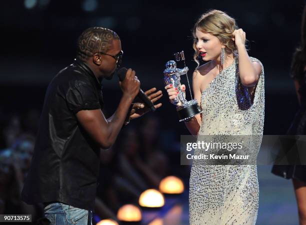
[[[253,102],[241,85],[238,59],[220,72],[202,92],[199,135],[256,134],[253,151],[261,144],[264,118],[264,73],[255,88]],[[256,165],[208,165],[194,163],[189,189],[190,224],[255,224],[258,210]]]

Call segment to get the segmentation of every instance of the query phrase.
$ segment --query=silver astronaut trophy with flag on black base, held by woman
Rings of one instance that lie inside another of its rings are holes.
[[[197,103],[197,100],[192,99],[187,101],[184,96],[184,92],[180,89],[180,76],[183,74],[187,74],[188,67],[185,64],[185,56],[184,51],[177,52],[174,54],[175,60],[184,62],[184,68],[176,68],[176,62],[173,60],[167,61],[166,69],[163,71],[164,75],[164,83],[165,85],[172,84],[172,86],[177,88],[178,94],[177,97],[171,99],[171,103],[176,105],[176,111],[178,113],[179,121],[187,121],[194,117],[196,114],[201,113],[200,107]],[[187,82],[190,90],[188,76]],[[191,90],[190,96],[192,98]]]

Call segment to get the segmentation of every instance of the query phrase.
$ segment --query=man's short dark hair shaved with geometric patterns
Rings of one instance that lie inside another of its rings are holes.
[[[77,39],[76,57],[82,61],[88,60],[94,53],[107,52],[113,39],[120,39],[111,29],[90,27],[85,29]]]

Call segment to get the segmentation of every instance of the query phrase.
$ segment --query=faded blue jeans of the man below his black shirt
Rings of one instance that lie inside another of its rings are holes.
[[[92,212],[61,202],[50,203],[44,207],[44,217],[51,225],[92,225]]]

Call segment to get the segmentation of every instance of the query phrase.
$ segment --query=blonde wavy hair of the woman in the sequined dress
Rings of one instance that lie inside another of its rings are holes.
[[[199,51],[196,49],[196,29],[201,32],[210,33],[216,36],[220,40],[221,44],[225,45],[224,50],[226,53],[233,53],[234,55],[237,54],[235,42],[232,40],[232,32],[235,29],[238,29],[235,20],[223,11],[210,10],[201,15],[201,17],[194,24],[192,30],[194,37],[193,49],[195,51],[193,59],[197,65],[199,65],[199,61],[197,60]]]

